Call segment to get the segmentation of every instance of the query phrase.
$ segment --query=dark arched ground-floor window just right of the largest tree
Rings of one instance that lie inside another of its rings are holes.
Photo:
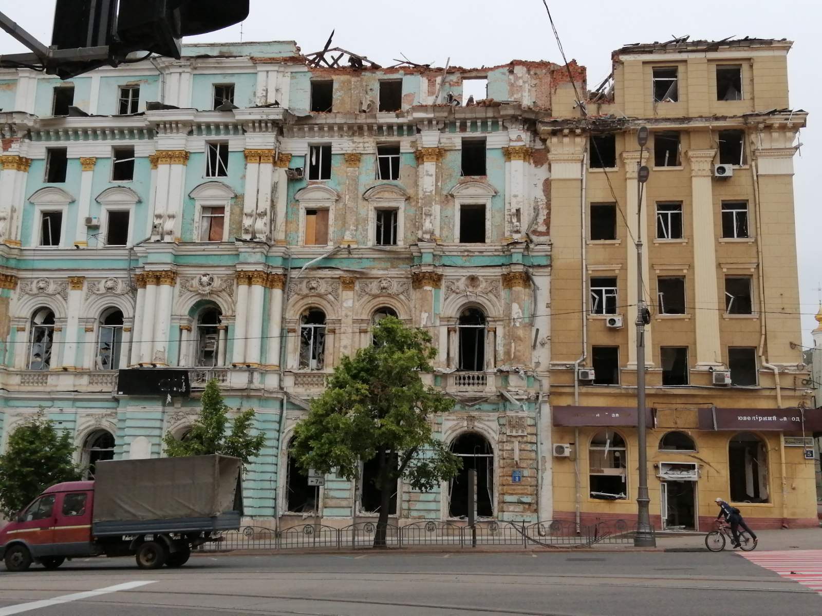
[[[477,471],[476,514],[494,515],[494,450],[488,440],[476,432],[464,432],[451,444],[451,453],[462,460],[462,468],[448,484],[449,517],[468,517],[468,471]]]

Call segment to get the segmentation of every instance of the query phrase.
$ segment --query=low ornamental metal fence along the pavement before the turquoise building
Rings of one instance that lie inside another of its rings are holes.
[[[389,524],[386,546],[440,545],[470,548],[483,545],[510,545],[529,548],[584,548],[594,544],[633,544],[636,525],[625,520],[596,522],[577,527],[574,522],[478,522],[462,526],[452,522],[413,522],[405,526]],[[235,549],[352,549],[371,548],[376,536],[374,522],[358,522],[334,528],[323,524],[293,526],[275,531],[262,526],[245,526],[227,531],[219,540],[201,545],[203,552]]]

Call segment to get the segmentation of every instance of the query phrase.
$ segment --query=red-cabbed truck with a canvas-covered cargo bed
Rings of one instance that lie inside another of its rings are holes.
[[[237,457],[97,462],[94,480],[52,485],[3,526],[0,559],[12,572],[90,556],[182,567],[192,548],[239,529],[241,480]]]

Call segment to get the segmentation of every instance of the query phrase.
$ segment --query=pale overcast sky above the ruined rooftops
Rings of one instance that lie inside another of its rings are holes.
[[[231,0],[228,0],[231,2]],[[404,53],[413,62],[442,66],[493,66],[513,58],[561,62],[542,0],[455,2],[414,0],[313,0],[271,2],[250,0],[251,14],[242,24],[242,40],[295,40],[303,53],[317,51],[336,30],[334,45],[365,55],[383,66]],[[2,2],[2,11],[48,44],[54,0]],[[819,0],[548,0],[569,58],[588,67],[589,87],[611,71],[611,51],[627,43],[666,41],[690,34],[691,39],[745,36],[795,41],[788,55],[791,106],[810,112],[801,131],[801,155],[795,159],[797,244],[802,335],[810,344],[813,315],[822,285],[822,213],[814,182],[822,169],[822,122],[815,115],[822,100],[819,48],[822,5]],[[241,26],[187,41],[236,41]],[[0,53],[25,51],[0,33]],[[797,341],[798,342],[798,341]]]

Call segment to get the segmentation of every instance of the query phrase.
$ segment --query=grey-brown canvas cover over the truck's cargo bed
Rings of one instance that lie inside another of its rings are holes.
[[[98,462],[94,522],[242,513],[241,464],[218,455]]]

